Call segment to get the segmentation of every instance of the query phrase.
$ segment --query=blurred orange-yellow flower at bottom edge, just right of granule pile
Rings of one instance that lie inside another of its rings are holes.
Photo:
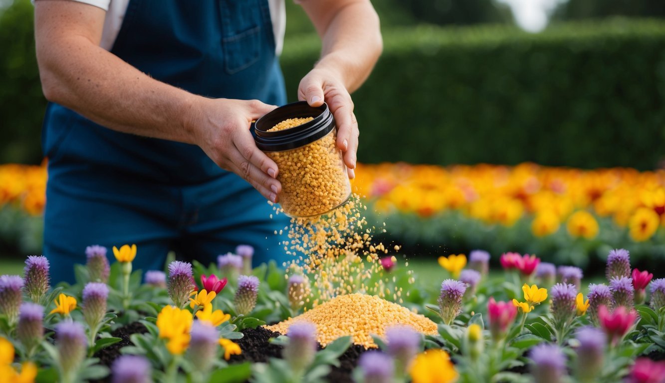
[[[448,352],[440,348],[418,354],[409,368],[409,374],[413,383],[450,383],[458,378]]]

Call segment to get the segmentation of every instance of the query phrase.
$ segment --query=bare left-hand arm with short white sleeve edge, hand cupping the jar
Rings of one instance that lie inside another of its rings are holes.
[[[251,120],[275,106],[205,98],[160,82],[99,47],[105,11],[70,0],[35,1],[35,40],[50,101],[118,132],[196,144],[271,201],[277,165],[254,144]]]

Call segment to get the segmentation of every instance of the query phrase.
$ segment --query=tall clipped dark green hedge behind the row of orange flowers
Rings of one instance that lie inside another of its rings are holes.
[[[315,37],[285,43],[291,100],[318,55]],[[362,162],[654,168],[665,154],[665,22],[388,31],[354,103]]]

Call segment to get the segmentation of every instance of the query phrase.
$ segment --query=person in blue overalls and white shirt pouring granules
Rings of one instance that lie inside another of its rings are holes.
[[[36,0],[49,100],[44,254],[71,281],[88,245],[136,244],[135,269],[168,251],[207,264],[243,243],[255,263],[284,260],[279,169],[250,124],[285,104],[284,0]],[[354,176],[350,92],[382,50],[368,0],[301,0],[322,39],[298,97],[327,102]],[[108,256],[112,257],[111,252]]]

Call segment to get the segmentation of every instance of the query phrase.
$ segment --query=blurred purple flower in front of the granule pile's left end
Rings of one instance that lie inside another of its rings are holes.
[[[317,326],[312,322],[295,322],[287,330],[289,343],[283,350],[284,359],[295,371],[303,371],[317,352]]]

